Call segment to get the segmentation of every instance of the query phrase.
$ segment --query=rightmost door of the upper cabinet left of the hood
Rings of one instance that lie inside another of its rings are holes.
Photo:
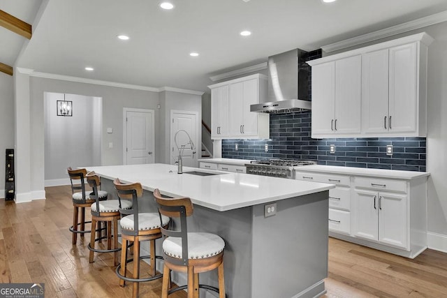
[[[244,105],[242,107],[242,134],[258,134],[258,113],[250,112],[250,105],[258,103],[258,80],[252,79],[244,82]]]

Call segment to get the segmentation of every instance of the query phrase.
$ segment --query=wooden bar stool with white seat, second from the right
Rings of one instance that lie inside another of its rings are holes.
[[[154,281],[161,278],[163,274],[156,275],[156,258],[162,259],[155,254],[155,240],[161,238],[161,226],[167,227],[168,216],[159,216],[156,213],[139,213],[138,198],[142,197],[142,186],[140,183],[122,184],[119,179],[113,181],[118,193],[118,199],[123,205],[124,200],[132,200],[132,209],[119,209],[122,214],[119,225],[121,227],[122,251],[121,264],[117,266],[116,274],[121,280],[122,287],[126,281],[133,283],[133,297],[138,297],[139,283]],[[160,224],[161,223],[161,224]],[[127,242],[133,242],[133,259],[127,260]],[[150,255],[140,256],[140,241],[149,241]],[[151,277],[140,278],[140,260],[150,258]],[[126,277],[126,264],[133,262],[133,278]]]

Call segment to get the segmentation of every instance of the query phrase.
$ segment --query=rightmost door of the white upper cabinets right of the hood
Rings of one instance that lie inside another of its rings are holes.
[[[390,132],[416,131],[418,64],[416,43],[390,48]]]

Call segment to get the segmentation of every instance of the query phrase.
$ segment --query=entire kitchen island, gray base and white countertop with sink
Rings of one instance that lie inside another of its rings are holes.
[[[139,181],[145,189],[139,204],[145,211],[156,211],[155,188],[169,197],[191,198],[194,214],[189,229],[219,234],[226,242],[228,297],[318,297],[325,292],[332,184],[192,167],[177,174],[177,166],[165,164],[87,170],[101,176],[101,188],[109,198],[117,198],[112,179]],[[265,205],[271,203],[276,203],[276,214],[265,217]],[[186,283],[182,274],[173,279]],[[217,273],[201,274],[200,283],[217,286]]]

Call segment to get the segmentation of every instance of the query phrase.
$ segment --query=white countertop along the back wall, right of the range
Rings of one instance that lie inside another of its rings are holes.
[[[367,177],[405,179],[405,180],[430,176],[429,172],[367,169],[364,167],[337,167],[335,165],[304,165],[302,167],[295,167],[295,170],[299,172],[322,172],[330,174],[348,174],[354,176],[367,176]]]

